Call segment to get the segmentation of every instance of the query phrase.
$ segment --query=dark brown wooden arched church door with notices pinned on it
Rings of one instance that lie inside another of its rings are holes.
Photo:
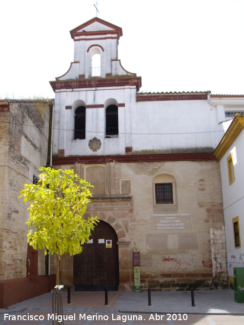
[[[105,287],[118,290],[117,241],[115,230],[108,223],[100,221],[92,231],[90,243],[83,245],[81,254],[74,255],[75,291],[103,291]]]

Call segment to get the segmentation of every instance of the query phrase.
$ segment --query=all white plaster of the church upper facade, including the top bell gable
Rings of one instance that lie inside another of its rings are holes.
[[[118,39],[111,34],[112,30],[100,22],[87,25],[85,32],[82,28],[77,30],[75,63],[59,80],[76,80],[81,76],[92,81],[94,49],[101,54],[102,78],[111,73],[113,76],[131,75],[117,59]],[[96,39],[86,34],[89,31],[96,33]],[[75,101],[82,100],[85,106],[101,106],[109,98],[124,104],[119,107],[119,138],[105,138],[105,107],[94,107],[86,109],[86,138],[73,140]],[[65,110],[65,106],[73,106],[73,109]],[[125,154],[125,147],[132,147],[133,153],[212,152],[224,135],[223,120],[224,105],[211,96],[208,100],[137,102],[136,86],[61,89],[55,94],[54,153],[64,150],[65,156]],[[92,152],[88,146],[93,137],[102,142],[97,152]]]

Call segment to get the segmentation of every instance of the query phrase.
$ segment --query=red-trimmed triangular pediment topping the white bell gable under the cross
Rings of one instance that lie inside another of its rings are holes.
[[[122,36],[122,28],[100,18],[93,18],[70,31],[71,37],[80,35],[99,35],[105,33],[117,34]]]

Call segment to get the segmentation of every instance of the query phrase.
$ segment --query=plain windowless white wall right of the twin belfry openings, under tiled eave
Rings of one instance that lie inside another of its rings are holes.
[[[132,117],[133,151],[214,148],[216,124],[206,100],[139,102]]]

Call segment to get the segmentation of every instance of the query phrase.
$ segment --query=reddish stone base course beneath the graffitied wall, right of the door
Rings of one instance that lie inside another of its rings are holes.
[[[223,274],[213,277],[212,273],[168,273],[168,274],[141,274],[141,289],[146,291],[188,291],[227,289],[228,282]]]

